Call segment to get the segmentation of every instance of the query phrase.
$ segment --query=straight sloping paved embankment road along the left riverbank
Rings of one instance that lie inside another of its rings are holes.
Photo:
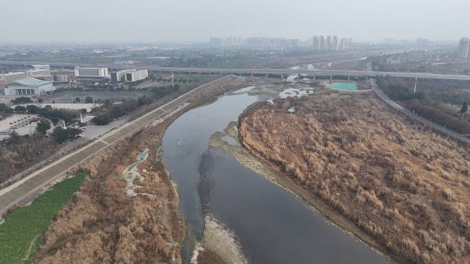
[[[230,76],[222,77],[219,80],[223,80],[225,78],[230,78]],[[217,82],[219,80],[215,80],[213,82]],[[166,117],[166,115],[169,115],[173,110],[177,109],[180,104],[185,103],[194,95],[201,93],[206,86],[213,82],[194,88],[192,91],[189,91],[188,93],[179,96],[177,99],[148,112],[146,115],[139,117],[135,121],[128,122],[121,125],[119,128],[104,134],[100,139],[89,143],[85,147],[82,147],[63,158],[60,158],[43,169],[39,169],[38,171],[31,173],[22,180],[0,189],[0,216],[8,211],[9,208],[25,199],[25,197],[28,197],[41,188],[47,186],[47,184],[50,184],[63,175],[63,173],[80,164],[90,156],[93,156],[93,154],[100,152],[102,149],[120,141],[120,139],[123,139],[126,136],[138,132],[146,125],[153,123],[153,121]]]

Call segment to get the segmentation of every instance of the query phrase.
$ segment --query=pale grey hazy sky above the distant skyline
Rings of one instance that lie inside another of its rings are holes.
[[[2,42],[208,42],[210,36],[458,39],[469,0],[0,0]]]

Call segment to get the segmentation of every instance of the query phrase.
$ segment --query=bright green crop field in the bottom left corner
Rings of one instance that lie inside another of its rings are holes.
[[[58,211],[71,201],[87,173],[58,182],[34,199],[32,204],[17,208],[0,224],[0,263],[31,263],[41,245],[35,241],[52,223]]]

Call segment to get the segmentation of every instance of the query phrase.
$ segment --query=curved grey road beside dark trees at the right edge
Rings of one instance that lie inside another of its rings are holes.
[[[388,104],[389,106],[392,106],[392,108],[395,108],[396,110],[399,110],[400,112],[407,115],[408,117],[411,117],[412,119],[419,121],[423,123],[424,125],[427,125],[429,128],[433,128],[434,130],[442,132],[443,134],[447,134],[448,136],[451,136],[454,139],[461,141],[462,143],[466,143],[470,145],[470,138],[468,138],[467,136],[462,136],[461,134],[458,134],[452,130],[448,130],[447,128],[444,128],[443,126],[437,125],[436,123],[432,123],[431,121],[424,119],[423,117],[420,117],[409,110],[406,110],[399,104],[396,104],[394,101],[392,101],[392,99],[388,98],[387,95],[385,95],[380,90],[379,86],[377,86],[377,84],[375,84],[374,81],[370,80],[370,85],[372,86],[372,90],[374,91],[374,93],[380,99],[382,99],[382,101],[385,101],[386,104]]]

